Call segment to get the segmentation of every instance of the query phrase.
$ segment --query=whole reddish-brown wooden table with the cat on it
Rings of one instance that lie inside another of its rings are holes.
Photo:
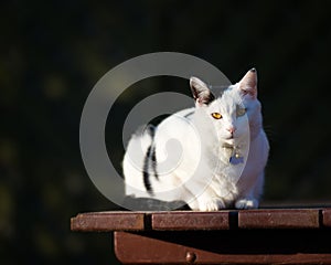
[[[331,208],[92,212],[71,229],[114,232],[122,264],[331,264]]]

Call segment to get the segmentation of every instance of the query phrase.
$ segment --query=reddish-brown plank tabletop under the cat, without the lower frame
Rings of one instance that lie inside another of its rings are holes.
[[[105,211],[79,213],[71,220],[72,231],[81,232],[324,227],[331,227],[331,208],[224,210],[216,212]]]

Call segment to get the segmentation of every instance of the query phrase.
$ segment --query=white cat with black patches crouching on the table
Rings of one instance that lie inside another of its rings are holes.
[[[269,144],[256,70],[217,97],[197,77],[190,87],[195,107],[130,138],[122,160],[126,195],[182,200],[195,211],[258,208]]]

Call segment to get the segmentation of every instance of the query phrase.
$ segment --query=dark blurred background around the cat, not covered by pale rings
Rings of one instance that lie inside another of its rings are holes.
[[[116,209],[84,169],[79,118],[107,71],[150,52],[195,55],[232,82],[255,66],[271,145],[264,201],[330,203],[330,18],[318,0],[1,1],[0,263],[116,264],[110,235],[70,231],[78,212]],[[189,89],[174,77],[140,85]],[[109,152],[119,163],[122,147]]]

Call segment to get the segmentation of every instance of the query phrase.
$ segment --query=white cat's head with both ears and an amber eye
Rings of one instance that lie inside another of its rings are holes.
[[[209,86],[196,77],[191,77],[190,86],[195,107],[203,113],[216,129],[217,138],[227,145],[247,134],[250,138],[261,127],[260,103],[257,99],[257,73],[252,68],[235,85],[215,96]]]

